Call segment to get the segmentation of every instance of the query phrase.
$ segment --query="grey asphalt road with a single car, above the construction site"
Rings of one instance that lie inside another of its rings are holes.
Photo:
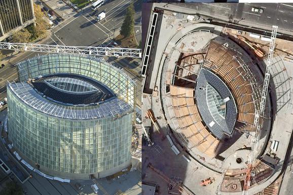
[[[234,4],[234,3],[194,3],[174,4],[193,10],[195,14],[202,14],[214,19],[271,31],[272,25],[278,25],[284,34],[293,32],[293,4]],[[262,8],[263,13],[252,12],[253,7]],[[166,6],[168,9],[168,6]],[[181,12],[186,12],[181,9]]]

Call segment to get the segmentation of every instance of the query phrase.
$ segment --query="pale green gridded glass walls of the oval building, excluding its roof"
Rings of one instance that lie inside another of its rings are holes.
[[[19,80],[24,85],[29,78],[68,73],[69,67],[71,73],[85,74],[105,84],[116,93],[116,98],[135,108],[133,81],[121,70],[96,58],[69,55],[35,57],[19,64]],[[32,166],[37,163],[41,170],[44,167],[45,170],[68,174],[95,174],[130,163],[133,109],[121,109],[119,114],[96,119],[72,120],[57,112],[54,116],[35,109],[31,102],[17,96],[11,86],[7,87],[9,138]],[[83,109],[85,115],[88,112],[86,106],[75,109]]]

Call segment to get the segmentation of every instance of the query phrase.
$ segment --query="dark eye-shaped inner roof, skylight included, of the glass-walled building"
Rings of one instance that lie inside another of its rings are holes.
[[[103,84],[78,74],[46,75],[31,84],[46,98],[67,105],[98,103],[115,96]]]

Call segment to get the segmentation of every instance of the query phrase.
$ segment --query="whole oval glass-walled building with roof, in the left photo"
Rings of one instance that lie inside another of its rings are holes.
[[[18,64],[7,86],[14,148],[46,174],[105,177],[130,166],[134,82],[98,58],[47,55]]]

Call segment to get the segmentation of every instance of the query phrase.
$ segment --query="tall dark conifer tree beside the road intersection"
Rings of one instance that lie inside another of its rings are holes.
[[[125,14],[124,21],[120,30],[120,34],[122,34],[124,37],[128,37],[131,34],[133,34],[134,14],[135,14],[134,6],[133,6],[133,2],[131,2],[128,8],[126,9],[126,14]]]

